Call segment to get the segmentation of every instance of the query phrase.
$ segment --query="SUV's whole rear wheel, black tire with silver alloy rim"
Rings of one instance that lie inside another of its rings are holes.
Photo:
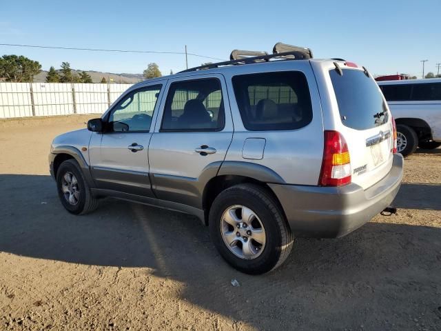
[[[277,268],[294,239],[271,194],[254,184],[221,192],[209,212],[209,230],[220,255],[237,270],[263,274]]]

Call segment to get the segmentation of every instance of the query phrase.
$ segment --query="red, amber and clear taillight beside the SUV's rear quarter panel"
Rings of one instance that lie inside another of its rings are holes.
[[[340,132],[327,130],[318,184],[340,186],[348,183],[351,183],[351,159],[347,143]]]

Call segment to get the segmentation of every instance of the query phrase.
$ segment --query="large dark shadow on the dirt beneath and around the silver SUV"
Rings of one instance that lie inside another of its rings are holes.
[[[438,321],[440,228],[368,223],[342,239],[298,239],[285,265],[252,277],[229,268],[195,217],[111,199],[76,217],[63,210],[48,176],[0,175],[0,201],[2,252],[152,268],[184,283],[183,299],[259,330],[322,330],[329,323],[402,329],[416,310],[426,312],[427,325]]]

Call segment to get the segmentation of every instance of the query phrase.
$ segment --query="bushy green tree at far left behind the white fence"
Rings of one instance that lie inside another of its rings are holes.
[[[33,81],[34,75],[41,72],[41,64],[23,55],[3,55],[0,58],[0,77],[6,81]]]

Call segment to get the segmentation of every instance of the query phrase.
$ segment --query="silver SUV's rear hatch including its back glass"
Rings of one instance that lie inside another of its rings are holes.
[[[352,183],[367,189],[385,177],[393,162],[391,113],[376,81],[358,68],[329,70],[351,158]]]

